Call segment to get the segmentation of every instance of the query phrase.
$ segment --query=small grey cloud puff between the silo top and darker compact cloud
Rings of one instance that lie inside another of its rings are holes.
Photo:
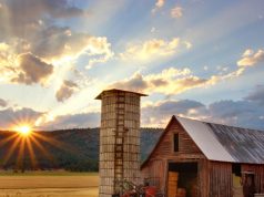
[[[78,85],[71,81],[64,80],[61,87],[57,91],[57,101],[63,102],[72,96],[72,94],[78,90]]]

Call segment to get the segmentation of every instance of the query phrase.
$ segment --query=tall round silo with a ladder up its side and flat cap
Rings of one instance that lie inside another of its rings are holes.
[[[122,191],[116,182],[140,182],[140,94],[103,91],[100,129],[100,197]]]

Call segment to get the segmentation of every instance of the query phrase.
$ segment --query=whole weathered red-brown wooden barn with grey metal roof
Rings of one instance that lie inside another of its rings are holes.
[[[264,132],[173,116],[141,176],[169,197],[264,196]]]

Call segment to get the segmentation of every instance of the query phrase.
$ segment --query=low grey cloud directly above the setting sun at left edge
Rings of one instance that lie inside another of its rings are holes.
[[[34,125],[34,121],[43,113],[32,108],[6,108],[0,111],[0,129],[12,129],[19,124]]]

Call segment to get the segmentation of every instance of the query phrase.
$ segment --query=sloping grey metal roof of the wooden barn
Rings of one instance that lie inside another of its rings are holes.
[[[206,123],[179,116],[172,117],[156,146],[164,134],[169,132],[173,121],[181,124],[210,160],[264,164],[264,131]]]

